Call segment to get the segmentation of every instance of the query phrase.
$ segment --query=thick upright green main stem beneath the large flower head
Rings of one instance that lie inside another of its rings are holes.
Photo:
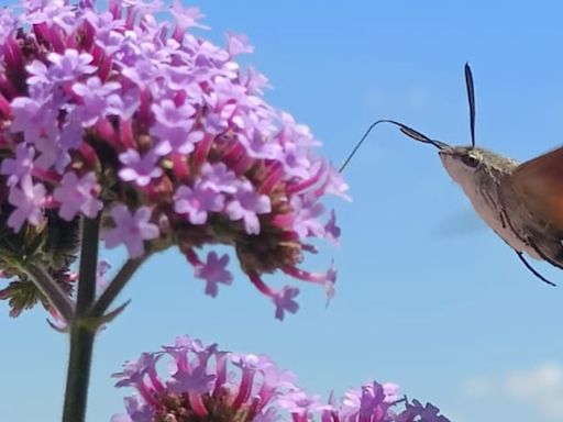
[[[98,241],[100,219],[82,218],[80,233],[80,267],[75,316],[69,324],[70,355],[65,390],[63,422],[84,422],[92,363],[96,327],[85,323],[87,311],[96,299]]]

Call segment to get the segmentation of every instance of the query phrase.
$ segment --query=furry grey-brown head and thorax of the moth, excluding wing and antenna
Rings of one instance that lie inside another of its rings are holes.
[[[440,159],[455,180],[479,216],[514,249],[540,258],[537,252],[515,233],[521,229],[515,210],[503,209],[503,195],[507,192],[507,178],[518,163],[511,158],[482,148],[451,147],[440,151]],[[510,222],[506,221],[506,218]]]

